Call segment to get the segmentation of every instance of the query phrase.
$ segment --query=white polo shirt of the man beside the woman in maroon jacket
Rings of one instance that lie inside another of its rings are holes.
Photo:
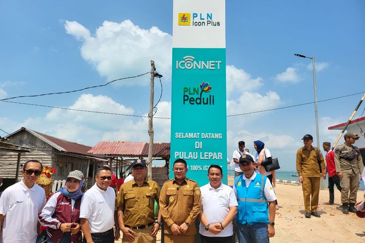
[[[88,219],[91,233],[103,233],[114,226],[114,210],[114,190],[101,190],[95,183],[81,199],[80,218]]]

